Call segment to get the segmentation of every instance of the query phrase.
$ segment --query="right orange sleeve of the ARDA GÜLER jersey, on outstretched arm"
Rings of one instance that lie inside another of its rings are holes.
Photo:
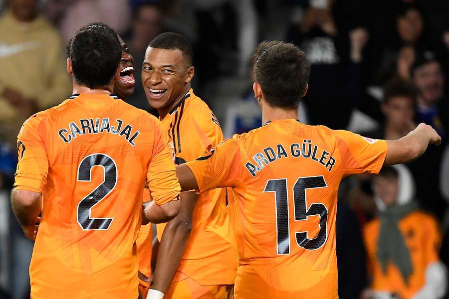
[[[333,132],[345,175],[379,173],[387,155],[388,147],[385,140],[366,138],[343,130]]]

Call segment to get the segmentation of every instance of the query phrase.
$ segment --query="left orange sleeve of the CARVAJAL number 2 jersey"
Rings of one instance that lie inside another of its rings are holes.
[[[42,193],[47,182],[46,123],[41,116],[26,120],[17,136],[18,163],[14,187]]]

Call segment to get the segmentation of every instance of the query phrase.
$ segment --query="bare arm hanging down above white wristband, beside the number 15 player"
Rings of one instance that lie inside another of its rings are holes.
[[[181,210],[164,228],[151,286],[154,290],[166,293],[170,286],[192,231],[192,215],[197,199],[195,192],[182,192]]]

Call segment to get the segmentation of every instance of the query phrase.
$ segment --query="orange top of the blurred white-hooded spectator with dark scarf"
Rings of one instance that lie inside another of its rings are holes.
[[[413,274],[406,284],[398,267],[389,263],[387,273],[377,259],[377,240],[379,238],[380,220],[375,219],[363,229],[363,235],[368,253],[369,272],[372,275],[371,289],[389,291],[408,299],[424,287],[426,269],[440,259],[438,253],[441,245],[441,234],[437,220],[422,211],[415,211],[399,221],[399,229],[409,248],[413,266]]]

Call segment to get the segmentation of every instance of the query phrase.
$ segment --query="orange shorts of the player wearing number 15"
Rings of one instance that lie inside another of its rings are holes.
[[[292,274],[294,275],[294,274]],[[274,288],[250,265],[240,265],[235,279],[234,299],[338,299],[332,285],[318,284],[310,289],[288,292]]]

